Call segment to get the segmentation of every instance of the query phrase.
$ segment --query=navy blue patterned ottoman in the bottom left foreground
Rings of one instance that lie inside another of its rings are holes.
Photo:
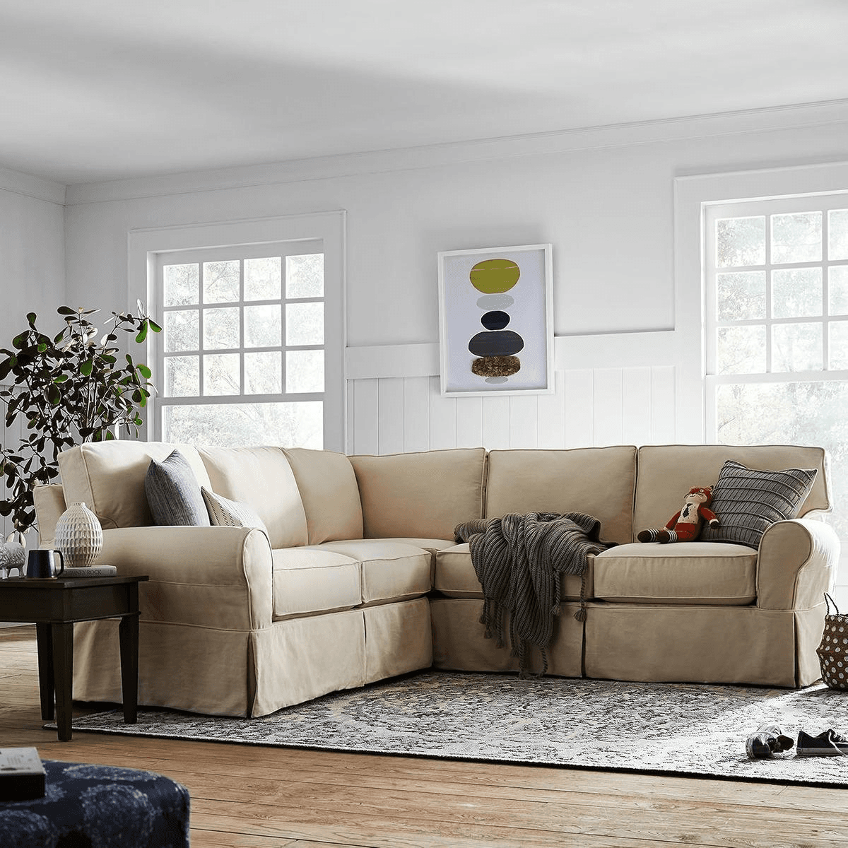
[[[4,848],[187,848],[185,786],[134,768],[42,762],[43,798],[0,801]]]

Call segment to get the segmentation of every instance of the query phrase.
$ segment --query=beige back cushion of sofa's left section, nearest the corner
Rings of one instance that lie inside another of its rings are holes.
[[[307,448],[286,455],[304,502],[309,544],[362,538],[360,493],[348,457]]]

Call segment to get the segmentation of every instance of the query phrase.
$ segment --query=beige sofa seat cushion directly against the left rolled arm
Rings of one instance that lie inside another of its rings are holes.
[[[282,548],[271,556],[275,621],[360,605],[360,564],[354,558],[315,548]]]

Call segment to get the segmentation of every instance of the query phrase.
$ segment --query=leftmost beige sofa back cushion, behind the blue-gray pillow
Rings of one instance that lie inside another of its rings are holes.
[[[82,501],[98,516],[104,530],[153,524],[144,490],[150,460],[164,461],[179,449],[192,467],[198,484],[209,486],[203,460],[188,444],[165,442],[90,442],[59,454],[64,499]]]

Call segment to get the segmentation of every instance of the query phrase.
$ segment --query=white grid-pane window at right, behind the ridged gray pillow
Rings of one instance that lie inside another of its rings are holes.
[[[848,194],[705,209],[706,433],[828,449],[848,539]]]

